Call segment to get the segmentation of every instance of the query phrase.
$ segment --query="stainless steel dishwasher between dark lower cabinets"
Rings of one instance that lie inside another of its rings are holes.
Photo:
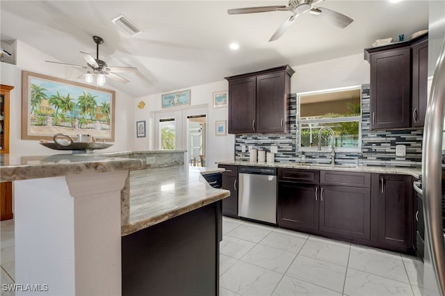
[[[277,224],[277,169],[238,168],[238,216]]]

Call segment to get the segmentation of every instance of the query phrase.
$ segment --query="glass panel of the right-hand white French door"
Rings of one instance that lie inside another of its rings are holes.
[[[189,164],[205,166],[206,115],[187,116]]]

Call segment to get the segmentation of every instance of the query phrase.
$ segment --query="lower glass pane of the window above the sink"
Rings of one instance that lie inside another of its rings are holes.
[[[358,121],[353,122],[329,122],[323,124],[302,123],[301,126],[301,147],[317,147],[318,132],[322,127],[330,127],[335,135],[335,147],[359,147]],[[321,131],[321,147],[330,147],[332,135],[329,130]]]

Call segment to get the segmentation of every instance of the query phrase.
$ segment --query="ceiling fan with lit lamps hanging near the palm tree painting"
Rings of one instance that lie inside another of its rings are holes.
[[[128,79],[125,79],[124,77],[116,73],[134,73],[138,72],[138,69],[136,67],[108,67],[108,65],[106,65],[104,60],[99,60],[99,44],[104,43],[104,40],[99,36],[92,36],[92,40],[94,40],[96,43],[96,58],[93,58],[90,54],[87,54],[86,52],[80,51],[83,58],[86,60],[86,64],[88,65],[88,67],[80,65],[72,65],[67,63],[53,62],[51,60],[46,60],[46,62],[70,66],[70,67],[88,69],[88,72],[79,76],[79,79],[85,78],[87,82],[92,82],[92,76],[95,75],[97,76],[98,85],[104,85],[105,77],[109,77],[121,83],[129,83],[130,81]]]

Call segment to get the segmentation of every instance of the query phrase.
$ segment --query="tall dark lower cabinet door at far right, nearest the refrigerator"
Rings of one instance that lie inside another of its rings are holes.
[[[379,242],[408,250],[412,246],[411,176],[380,174],[378,190]]]

